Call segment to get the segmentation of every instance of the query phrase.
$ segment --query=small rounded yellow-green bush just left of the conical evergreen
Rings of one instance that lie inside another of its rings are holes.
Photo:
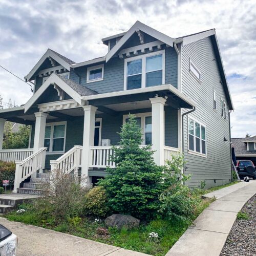
[[[84,212],[86,215],[105,217],[110,211],[108,199],[103,187],[97,186],[92,188],[84,198]]]

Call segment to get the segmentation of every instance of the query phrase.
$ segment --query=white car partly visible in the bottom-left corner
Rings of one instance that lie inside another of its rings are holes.
[[[18,239],[8,228],[0,224],[0,255],[15,256],[18,246]]]

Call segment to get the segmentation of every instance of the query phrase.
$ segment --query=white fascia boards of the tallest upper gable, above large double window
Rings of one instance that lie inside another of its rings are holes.
[[[106,54],[106,62],[108,62],[114,54],[123,46],[123,44],[139,29],[142,32],[155,37],[156,39],[164,42],[166,45],[173,47],[174,39],[169,37],[151,27],[146,26],[145,24],[137,21],[118,41],[118,43]]]

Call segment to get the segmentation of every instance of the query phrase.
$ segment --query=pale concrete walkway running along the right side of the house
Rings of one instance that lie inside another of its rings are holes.
[[[256,193],[256,181],[240,182],[204,197],[216,197],[166,255],[217,256],[236,221],[237,213]]]

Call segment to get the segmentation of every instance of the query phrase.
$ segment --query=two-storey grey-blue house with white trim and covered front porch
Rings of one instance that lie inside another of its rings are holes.
[[[105,167],[114,167],[108,155],[129,113],[143,143],[153,145],[157,164],[183,152],[189,186],[229,182],[233,105],[215,29],[172,38],[136,22],[102,41],[108,53],[80,63],[48,49],[25,77],[34,81],[33,96],[0,111],[0,135],[5,120],[32,125],[27,151],[40,156],[41,165],[16,186],[36,168],[81,169],[86,185],[104,177]]]

